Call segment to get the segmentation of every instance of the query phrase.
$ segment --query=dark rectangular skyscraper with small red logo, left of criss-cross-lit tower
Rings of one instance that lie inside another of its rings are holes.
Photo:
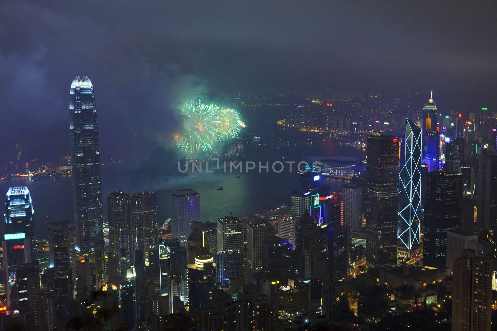
[[[366,263],[397,263],[399,139],[368,136],[366,163]]]

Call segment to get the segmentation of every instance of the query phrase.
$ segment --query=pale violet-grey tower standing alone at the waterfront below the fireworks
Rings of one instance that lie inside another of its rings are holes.
[[[200,220],[200,195],[192,189],[178,190],[171,195],[171,235],[186,247],[190,223]]]

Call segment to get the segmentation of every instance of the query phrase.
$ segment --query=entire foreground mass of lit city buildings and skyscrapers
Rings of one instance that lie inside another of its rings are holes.
[[[402,136],[367,137],[365,176],[342,192],[302,174],[284,215],[201,222],[200,195],[184,189],[162,224],[153,192],[115,191],[106,235],[88,77],[74,79],[70,96],[74,222],[49,223],[42,266],[29,190],[8,190],[0,329],[367,330],[426,309],[445,310],[452,330],[490,330],[497,156],[488,112],[470,132],[460,115],[443,124],[430,98],[420,125],[406,118]],[[378,313],[362,304],[368,288],[387,302]]]

